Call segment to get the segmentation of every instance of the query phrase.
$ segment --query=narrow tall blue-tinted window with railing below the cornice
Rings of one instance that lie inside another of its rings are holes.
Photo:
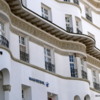
[[[69,56],[69,62],[70,62],[71,77],[78,77],[74,55]]]

